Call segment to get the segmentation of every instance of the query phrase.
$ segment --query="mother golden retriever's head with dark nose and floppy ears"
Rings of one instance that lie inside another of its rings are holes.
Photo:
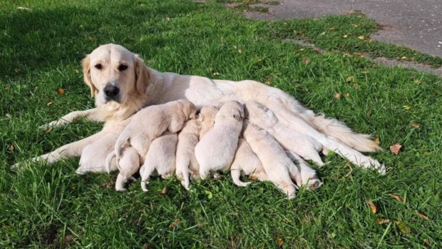
[[[123,46],[106,44],[83,59],[83,76],[99,102],[122,104],[133,94],[145,94],[151,73],[138,55]]]

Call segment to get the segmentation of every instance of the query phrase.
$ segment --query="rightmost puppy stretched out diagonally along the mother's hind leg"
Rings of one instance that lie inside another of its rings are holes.
[[[251,123],[270,133],[284,149],[302,156],[304,159],[312,160],[319,166],[324,165],[318,153],[322,150],[322,145],[317,140],[287,128],[279,122],[272,111],[254,101],[245,103],[245,112]]]

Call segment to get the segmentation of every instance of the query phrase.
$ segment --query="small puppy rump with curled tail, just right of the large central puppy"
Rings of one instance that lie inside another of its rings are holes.
[[[248,186],[252,182],[242,182],[240,176],[242,174],[249,176],[249,178],[256,178],[259,181],[268,181],[269,177],[262,167],[261,161],[249,143],[244,138],[240,138],[238,141],[238,149],[235,153],[235,159],[233,159],[232,166],[230,166],[230,173],[232,175],[233,182],[240,187]]]

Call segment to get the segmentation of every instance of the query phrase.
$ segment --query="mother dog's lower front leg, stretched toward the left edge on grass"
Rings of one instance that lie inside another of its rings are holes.
[[[95,141],[98,141],[98,139],[103,138],[103,136],[105,135],[106,135],[105,132],[100,131],[92,136],[83,138],[80,141],[68,143],[65,146],[61,146],[60,148],[57,148],[55,151],[44,154],[43,156],[37,156],[35,158],[31,158],[30,160],[24,161],[23,163],[16,163],[13,166],[11,166],[11,169],[18,169],[25,163],[33,163],[41,161],[43,162],[46,161],[46,165],[49,166],[62,159],[79,157],[81,156],[81,151],[83,151],[83,148],[85,148],[86,146],[88,146],[89,144]]]

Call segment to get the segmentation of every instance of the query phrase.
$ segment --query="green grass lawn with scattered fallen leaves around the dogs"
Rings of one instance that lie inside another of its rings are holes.
[[[1,2],[0,247],[277,248],[282,241],[282,248],[441,248],[441,78],[346,54],[369,48],[412,58],[399,47],[355,39],[376,27],[364,16],[285,22],[250,21],[222,5],[190,1]],[[281,41],[292,36],[334,52]],[[328,156],[326,166],[316,167],[324,186],[302,189],[290,201],[270,183],[238,188],[228,175],[194,184],[190,192],[172,178],[154,179],[148,193],[139,182],[117,193],[115,173],[77,176],[76,158],[10,171],[16,161],[101,128],[81,122],[38,130],[93,106],[80,61],[107,43],[123,44],[159,71],[251,78],[282,88],[309,108],[379,137],[386,150],[371,156],[390,171],[379,176]],[[394,156],[389,146],[396,142],[404,148]],[[401,232],[398,220],[411,233]]]

